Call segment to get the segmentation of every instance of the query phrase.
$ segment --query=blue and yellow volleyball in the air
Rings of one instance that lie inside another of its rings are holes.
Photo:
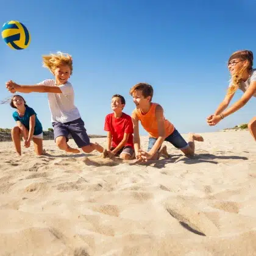
[[[12,49],[23,50],[30,44],[29,30],[19,21],[8,21],[2,26],[2,38]]]

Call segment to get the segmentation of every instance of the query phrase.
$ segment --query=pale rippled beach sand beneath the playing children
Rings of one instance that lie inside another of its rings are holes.
[[[165,143],[146,165],[1,142],[0,255],[256,255],[255,141],[202,136],[193,159]]]

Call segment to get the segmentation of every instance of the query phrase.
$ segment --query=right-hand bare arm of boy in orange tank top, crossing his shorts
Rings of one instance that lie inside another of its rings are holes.
[[[163,108],[160,105],[157,105],[155,108],[155,118],[157,119],[157,127],[158,127],[158,138],[155,141],[153,148],[149,151],[150,155],[154,155],[158,149],[165,141],[165,125],[164,125],[164,118],[163,118]]]

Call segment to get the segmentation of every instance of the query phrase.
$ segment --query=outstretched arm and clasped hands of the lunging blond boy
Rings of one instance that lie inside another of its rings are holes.
[[[20,91],[20,93],[62,93],[57,86],[47,85],[18,85],[12,80],[6,83],[6,88],[10,92]]]

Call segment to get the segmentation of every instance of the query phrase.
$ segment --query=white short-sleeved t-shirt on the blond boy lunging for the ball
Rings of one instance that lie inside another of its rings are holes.
[[[74,90],[69,82],[55,85],[55,80],[47,79],[38,85],[58,86],[62,91],[62,93],[48,93],[52,122],[66,123],[81,117],[79,110],[74,105]]]

